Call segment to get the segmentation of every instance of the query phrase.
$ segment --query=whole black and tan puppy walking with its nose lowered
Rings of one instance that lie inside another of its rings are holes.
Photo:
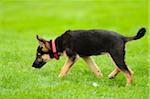
[[[96,76],[102,77],[101,71],[90,56],[108,53],[116,65],[109,78],[114,78],[122,71],[125,73],[127,85],[129,85],[132,82],[132,72],[125,64],[125,44],[128,41],[140,39],[145,32],[146,29],[141,28],[136,36],[126,37],[106,30],[68,30],[50,41],[37,36],[39,47],[33,67],[41,68],[49,60],[53,58],[58,60],[59,56],[66,54],[68,60],[60,72],[60,77],[67,74],[79,57],[85,60]]]

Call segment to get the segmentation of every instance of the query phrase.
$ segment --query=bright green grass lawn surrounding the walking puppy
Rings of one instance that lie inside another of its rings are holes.
[[[123,73],[108,79],[114,65],[107,55],[93,56],[101,79],[83,60],[59,78],[66,57],[40,70],[31,67],[36,34],[54,39],[67,29],[96,28],[133,36],[141,27],[148,28],[148,0],[1,0],[0,99],[148,99],[148,32],[126,45],[126,63],[134,71],[130,87]]]

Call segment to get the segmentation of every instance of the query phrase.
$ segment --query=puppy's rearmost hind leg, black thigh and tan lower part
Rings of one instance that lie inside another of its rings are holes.
[[[110,52],[110,55],[112,59],[114,60],[116,66],[120,71],[123,71],[125,73],[126,79],[127,79],[127,85],[130,85],[132,83],[132,73],[128,69],[127,65],[125,64],[125,51],[124,48],[117,48],[113,49]]]

